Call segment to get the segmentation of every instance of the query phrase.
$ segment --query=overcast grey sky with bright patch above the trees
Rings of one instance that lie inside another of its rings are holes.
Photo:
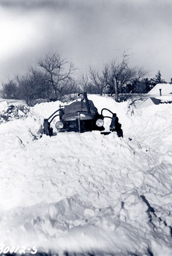
[[[59,52],[85,71],[130,55],[172,77],[171,0],[0,0],[0,81]]]

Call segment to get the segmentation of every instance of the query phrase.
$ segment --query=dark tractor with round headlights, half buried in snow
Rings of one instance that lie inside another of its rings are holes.
[[[92,132],[93,130],[99,130],[103,135],[109,135],[111,132],[116,132],[119,137],[123,137],[121,124],[118,122],[118,117],[115,113],[112,113],[108,108],[103,108],[101,114],[98,113],[97,108],[91,100],[87,99],[86,92],[78,94],[80,101],[74,101],[70,105],[60,106],[59,110],[56,110],[51,114],[48,119],[44,119],[44,134],[52,136],[53,128],[50,126],[55,117],[59,116],[59,121],[56,123],[56,129],[58,132]],[[109,111],[112,114],[111,117],[103,116],[103,111]],[[56,114],[58,113],[59,114]],[[103,119],[111,119],[109,126],[109,132],[103,132]]]

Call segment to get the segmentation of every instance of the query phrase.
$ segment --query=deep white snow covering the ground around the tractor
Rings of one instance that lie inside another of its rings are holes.
[[[117,113],[124,138],[41,137],[43,119],[60,102],[12,103],[11,113],[11,103],[0,103],[0,244],[59,255],[171,256],[172,104],[136,110],[89,99]]]

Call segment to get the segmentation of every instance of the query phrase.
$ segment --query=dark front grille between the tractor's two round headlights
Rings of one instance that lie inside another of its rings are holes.
[[[91,132],[93,130],[94,120],[80,120],[80,132]],[[66,132],[79,132],[78,120],[64,121]]]

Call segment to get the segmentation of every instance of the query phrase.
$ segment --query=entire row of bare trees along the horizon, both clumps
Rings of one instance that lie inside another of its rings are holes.
[[[87,73],[80,75],[77,75],[73,63],[63,59],[59,53],[48,53],[40,57],[36,66],[25,75],[15,76],[2,84],[1,95],[34,105],[35,100],[40,98],[63,100],[64,95],[83,90],[91,94],[114,94],[119,102],[127,100],[132,93],[148,92],[155,81],[145,78],[147,75],[146,69],[129,66],[129,56],[125,52],[121,61],[112,60],[100,70],[90,66]],[[160,71],[155,79],[161,80]]]

